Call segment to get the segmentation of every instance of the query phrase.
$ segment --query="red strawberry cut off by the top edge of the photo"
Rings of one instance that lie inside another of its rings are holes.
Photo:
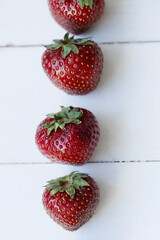
[[[104,12],[104,0],[48,0],[53,18],[73,34],[85,32]]]

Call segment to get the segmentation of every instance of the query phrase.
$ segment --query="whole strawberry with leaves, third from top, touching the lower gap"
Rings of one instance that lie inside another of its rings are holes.
[[[92,156],[100,130],[95,116],[83,108],[62,107],[48,114],[37,128],[40,152],[53,162],[81,165]]]

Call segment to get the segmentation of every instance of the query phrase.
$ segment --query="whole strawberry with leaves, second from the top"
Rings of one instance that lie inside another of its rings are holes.
[[[47,45],[42,66],[58,88],[68,94],[83,95],[97,86],[103,68],[103,54],[99,46],[88,39],[69,38],[54,40]]]

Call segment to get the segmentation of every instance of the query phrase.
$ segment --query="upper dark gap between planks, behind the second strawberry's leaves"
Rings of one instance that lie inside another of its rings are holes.
[[[154,44],[160,43],[160,40],[140,40],[140,41],[116,41],[116,42],[97,42],[100,45],[120,45],[120,44]],[[6,44],[0,45],[0,48],[27,48],[27,47],[42,47],[43,44]]]

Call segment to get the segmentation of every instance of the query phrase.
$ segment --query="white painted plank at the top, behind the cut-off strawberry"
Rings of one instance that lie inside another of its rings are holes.
[[[160,40],[159,0],[106,0],[102,19],[84,36],[98,42]],[[44,44],[62,37],[47,0],[0,0],[0,45]]]

